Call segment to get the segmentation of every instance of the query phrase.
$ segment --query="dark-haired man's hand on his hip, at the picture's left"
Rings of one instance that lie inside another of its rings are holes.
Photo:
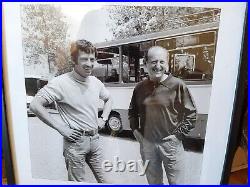
[[[76,129],[71,129],[67,126],[61,126],[60,129],[58,129],[58,132],[71,142],[76,142],[82,136],[81,132]]]

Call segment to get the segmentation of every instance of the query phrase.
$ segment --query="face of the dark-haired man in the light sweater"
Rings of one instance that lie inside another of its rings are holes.
[[[75,65],[75,70],[82,77],[88,77],[92,73],[95,60],[95,53],[85,53],[84,51],[79,51],[78,63]]]

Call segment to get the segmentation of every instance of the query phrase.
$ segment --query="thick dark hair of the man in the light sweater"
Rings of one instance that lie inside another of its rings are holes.
[[[75,63],[78,63],[79,51],[83,51],[88,54],[95,53],[95,57],[97,56],[97,50],[95,46],[87,40],[77,40],[71,44],[70,55],[72,61]]]

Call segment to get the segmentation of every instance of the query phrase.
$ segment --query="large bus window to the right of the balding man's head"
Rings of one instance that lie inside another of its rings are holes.
[[[185,80],[212,80],[216,32],[156,40],[169,51],[170,72]]]

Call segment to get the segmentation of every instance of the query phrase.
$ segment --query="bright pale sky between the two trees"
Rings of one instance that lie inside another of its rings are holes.
[[[70,25],[70,40],[84,38],[98,43],[111,37],[105,25],[108,16],[103,12],[102,4],[65,3],[61,4],[61,8]]]

